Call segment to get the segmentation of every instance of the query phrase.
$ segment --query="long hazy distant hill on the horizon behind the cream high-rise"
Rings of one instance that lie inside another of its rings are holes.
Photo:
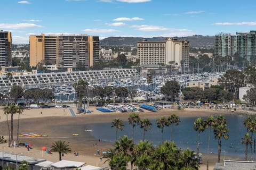
[[[138,41],[147,39],[148,41],[164,41],[168,37],[108,37],[100,40],[100,46],[137,46]],[[213,48],[214,47],[214,36],[190,36],[190,37],[172,37],[179,40],[188,40],[189,45],[194,48]]]

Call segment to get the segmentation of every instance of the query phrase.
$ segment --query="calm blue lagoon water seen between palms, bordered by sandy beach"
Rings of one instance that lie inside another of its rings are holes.
[[[234,156],[244,156],[245,146],[241,144],[241,138],[246,133],[246,128],[244,128],[243,120],[247,115],[225,115],[229,128],[229,140],[222,139],[221,154],[234,155]],[[205,117],[206,118],[206,117]],[[190,148],[191,150],[196,150],[197,143],[197,132],[193,129],[195,118],[181,118],[181,122],[178,126],[173,127],[173,140],[182,149]],[[154,145],[162,143],[162,133],[161,129],[158,129],[155,122],[156,120],[151,120],[153,123],[152,129],[146,132],[146,140],[152,141]],[[99,138],[104,141],[114,142],[115,141],[115,128],[111,128],[111,123],[101,123],[101,124],[91,124],[89,128],[93,131],[91,132],[95,138]],[[164,128],[164,140],[170,140],[171,128]],[[200,152],[207,153],[207,142],[208,142],[209,131],[206,130],[201,132],[201,145]],[[129,138],[132,137],[132,126],[125,122],[123,131],[118,130],[118,135],[123,137],[127,135]],[[143,139],[143,130],[140,126],[136,126],[134,129],[134,141],[139,142]],[[232,146],[232,147],[231,147]],[[211,142],[210,151],[215,154],[218,153],[218,141],[214,139],[213,132],[211,131]]]

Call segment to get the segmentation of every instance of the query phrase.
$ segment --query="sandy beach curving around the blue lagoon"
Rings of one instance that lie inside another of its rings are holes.
[[[76,113],[75,106],[71,106]],[[85,165],[93,165],[93,166],[108,166],[107,163],[103,164],[104,159],[100,161],[102,155],[95,155],[97,150],[101,152],[104,150],[108,150],[109,148],[113,148],[113,143],[98,141],[87,133],[86,140],[81,142],[75,140],[79,138],[79,136],[75,137],[72,134],[65,133],[65,128],[70,128],[64,126],[64,124],[76,124],[83,123],[86,127],[87,124],[91,123],[104,123],[111,122],[114,118],[121,118],[123,121],[126,121],[131,113],[101,113],[96,107],[90,106],[89,109],[93,111],[91,114],[79,114],[76,117],[73,117],[69,112],[69,109],[63,108],[37,108],[37,109],[25,109],[23,113],[20,115],[20,133],[36,133],[36,134],[47,134],[47,137],[38,137],[38,138],[30,138],[30,137],[19,137],[20,142],[28,142],[33,143],[33,146],[30,151],[27,151],[25,147],[7,147],[7,143],[0,144],[0,147],[4,147],[4,152],[13,152],[14,154],[26,155],[30,157],[37,157],[49,160],[51,162],[58,162],[59,157],[57,152],[53,152],[53,154],[46,154],[45,151],[42,152],[41,148],[44,146],[46,148],[50,148],[52,143],[56,140],[65,140],[69,143],[69,147],[72,152],[68,155],[64,155],[63,160],[74,160],[78,162],[85,162]],[[41,114],[42,112],[42,114]],[[212,111],[209,109],[195,109],[195,108],[186,108],[181,111],[177,109],[163,109],[161,111],[150,112],[146,111],[143,113],[139,113],[141,118],[159,118],[160,116],[169,116],[171,114],[177,114],[180,117],[201,117],[201,116],[210,116],[210,115],[218,115],[220,111]],[[235,112],[236,113],[236,112]],[[221,114],[234,114],[234,112],[221,112]],[[0,110],[0,134],[5,136],[5,139],[8,141],[8,130],[6,125],[6,115],[4,115],[3,109]],[[17,119],[18,115],[14,116],[14,132],[13,137],[14,140],[17,140]],[[10,120],[10,116],[9,116]],[[97,146],[94,145],[97,143]],[[74,152],[79,151],[79,156],[75,156]],[[203,164],[201,164],[200,169],[206,169],[206,159],[207,154],[203,154]],[[233,156],[222,156],[221,159],[241,159]],[[217,162],[217,155],[210,155],[210,169],[212,170],[215,162]]]

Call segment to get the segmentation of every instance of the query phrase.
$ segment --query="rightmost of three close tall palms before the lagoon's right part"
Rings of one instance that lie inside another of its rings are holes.
[[[221,139],[228,139],[227,120],[222,115],[218,115],[214,123],[214,138],[218,139],[218,163],[220,163],[220,154],[221,154]]]

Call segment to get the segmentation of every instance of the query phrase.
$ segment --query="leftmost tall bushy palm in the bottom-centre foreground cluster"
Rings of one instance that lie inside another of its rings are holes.
[[[127,135],[120,138],[120,141],[115,142],[115,150],[124,157],[126,162],[131,161],[131,169],[133,168],[133,163],[135,162],[135,157],[132,156],[132,151],[134,148],[133,140],[129,139]]]

